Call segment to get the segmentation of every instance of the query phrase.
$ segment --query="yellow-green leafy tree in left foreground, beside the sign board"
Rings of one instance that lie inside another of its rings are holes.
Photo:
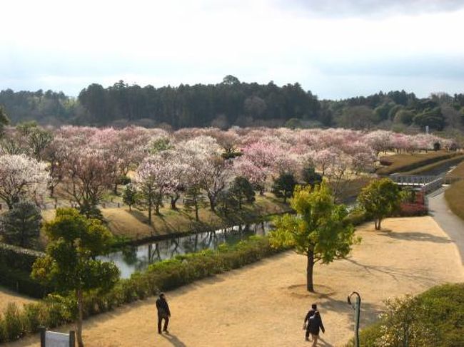
[[[31,276],[44,284],[53,283],[63,293],[74,292],[76,337],[78,346],[83,347],[84,291],[109,290],[119,277],[114,263],[96,260],[109,252],[111,232],[76,209],[57,209],[55,219],[44,224],[44,231],[49,239],[46,256],[36,260]]]

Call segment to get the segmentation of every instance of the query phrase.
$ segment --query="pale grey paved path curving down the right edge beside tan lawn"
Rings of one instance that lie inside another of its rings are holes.
[[[428,195],[428,209],[435,222],[458,246],[460,259],[464,266],[464,221],[449,209],[445,200],[445,190],[447,188],[443,187]]]

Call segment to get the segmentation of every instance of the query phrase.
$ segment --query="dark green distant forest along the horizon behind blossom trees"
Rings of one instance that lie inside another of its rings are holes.
[[[34,120],[41,125],[141,125],[189,128],[232,125],[289,128],[384,128],[398,131],[464,130],[464,94],[437,93],[417,98],[390,91],[343,100],[318,100],[299,83],[276,86],[243,83],[226,76],[218,84],[178,87],[129,86],[123,81],[104,88],[91,84],[78,98],[51,90],[1,90],[0,105],[12,124]]]

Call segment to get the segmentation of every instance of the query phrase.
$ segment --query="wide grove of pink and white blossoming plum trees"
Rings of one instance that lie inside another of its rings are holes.
[[[290,130],[287,128],[184,128],[175,132],[140,127],[47,129],[51,138],[40,155],[20,130],[6,128],[0,143],[0,197],[11,206],[25,197],[41,202],[46,188],[61,185],[84,211],[130,176],[143,202],[156,213],[164,200],[171,208],[192,187],[211,209],[234,177],[246,177],[263,193],[282,172],[300,179],[303,167],[316,167],[329,182],[372,172],[381,152],[450,149],[453,141],[434,135],[384,130]],[[41,160],[41,161],[37,161]],[[337,184],[333,185],[336,189]]]

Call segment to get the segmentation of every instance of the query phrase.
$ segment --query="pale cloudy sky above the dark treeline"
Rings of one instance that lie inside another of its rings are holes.
[[[464,0],[2,1],[0,89],[300,83],[464,93]]]

